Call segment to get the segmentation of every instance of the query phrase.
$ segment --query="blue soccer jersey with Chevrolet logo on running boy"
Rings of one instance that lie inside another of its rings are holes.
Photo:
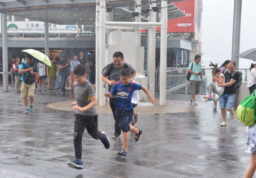
[[[140,89],[142,89],[142,85],[135,82],[130,82],[129,85],[123,85],[121,81],[116,82],[111,90],[111,94],[117,94],[116,107],[121,110],[133,110],[131,103],[133,92]]]

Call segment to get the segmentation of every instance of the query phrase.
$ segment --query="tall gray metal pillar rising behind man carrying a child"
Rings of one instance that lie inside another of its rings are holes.
[[[232,38],[232,61],[236,62],[236,69],[239,70],[240,31],[241,31],[242,0],[234,2],[233,17],[233,38]]]

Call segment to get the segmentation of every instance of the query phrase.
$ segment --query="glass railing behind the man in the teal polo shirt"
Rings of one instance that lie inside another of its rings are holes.
[[[203,84],[200,86],[200,94],[207,94],[207,85],[212,82],[212,68],[202,68]],[[247,82],[250,74],[249,68],[240,68],[243,82]],[[166,93],[190,93],[188,81],[186,79],[187,68],[166,68]],[[155,72],[155,92],[160,88],[160,68]]]

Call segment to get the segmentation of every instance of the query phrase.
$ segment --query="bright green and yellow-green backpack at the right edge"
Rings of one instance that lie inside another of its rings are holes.
[[[244,100],[242,100],[236,110],[236,116],[246,126],[253,126],[253,124],[256,122],[256,95],[254,95],[255,91],[256,90],[254,90],[251,95],[247,96]]]

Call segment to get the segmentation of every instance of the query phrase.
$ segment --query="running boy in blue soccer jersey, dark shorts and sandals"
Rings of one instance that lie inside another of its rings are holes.
[[[120,70],[120,79],[121,81],[114,84],[111,92],[105,93],[104,95],[112,98],[117,94],[115,101],[116,118],[119,118],[119,126],[122,129],[123,134],[123,149],[117,152],[117,154],[126,156],[129,140],[128,131],[135,134],[133,138],[134,142],[137,142],[142,134],[141,129],[136,129],[134,126],[129,125],[133,118],[133,104],[131,103],[133,92],[142,89],[148,95],[149,102],[152,102],[153,104],[157,102],[157,99],[154,99],[144,86],[136,84],[135,82],[130,82],[131,72],[128,68],[122,68]]]

